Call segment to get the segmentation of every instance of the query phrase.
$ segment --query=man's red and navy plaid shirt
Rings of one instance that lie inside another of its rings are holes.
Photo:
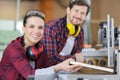
[[[81,52],[84,39],[83,29],[81,29],[79,35],[75,38],[71,55],[59,55],[66,44],[68,35],[66,17],[51,20],[45,25],[43,42],[51,65],[57,64],[67,58],[75,58],[73,54]]]

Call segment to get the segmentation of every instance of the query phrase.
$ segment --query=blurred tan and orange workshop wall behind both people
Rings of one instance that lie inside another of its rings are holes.
[[[41,0],[40,0],[41,1]],[[61,1],[60,4],[56,0],[42,0],[47,1],[44,2],[44,5],[39,0],[21,0],[20,3],[20,20],[23,18],[24,13],[28,9],[41,9],[45,11],[47,9],[47,16],[46,21],[50,20],[51,18],[58,18],[65,15],[66,6],[68,4],[68,0],[58,0]],[[111,17],[115,20],[115,27],[120,25],[120,10],[119,10],[119,3],[120,0],[91,0],[91,32],[92,32],[92,39],[93,45],[96,47],[97,43],[97,31],[99,29],[99,23],[101,21],[105,21],[107,14],[110,14]],[[48,3],[50,4],[48,5]],[[42,3],[42,4],[41,4]],[[7,5],[7,6],[6,6]],[[8,19],[8,20],[15,20],[16,17],[16,1],[14,0],[0,0],[0,19]],[[46,11],[45,11],[46,13]]]

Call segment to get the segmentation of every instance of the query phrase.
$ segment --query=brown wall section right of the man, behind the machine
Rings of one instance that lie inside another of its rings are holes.
[[[92,20],[91,20],[91,32],[93,38],[94,47],[97,43],[97,31],[99,29],[99,23],[106,21],[107,14],[115,20],[115,27],[120,26],[120,0],[92,0]]]

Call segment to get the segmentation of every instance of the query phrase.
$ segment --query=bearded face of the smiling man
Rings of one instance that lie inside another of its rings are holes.
[[[67,23],[74,25],[82,24],[86,19],[87,14],[86,6],[74,5],[73,8],[67,8]]]

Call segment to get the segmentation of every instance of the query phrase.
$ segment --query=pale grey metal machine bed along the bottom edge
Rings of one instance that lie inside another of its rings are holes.
[[[120,80],[120,76],[103,74],[59,74],[58,80]]]

